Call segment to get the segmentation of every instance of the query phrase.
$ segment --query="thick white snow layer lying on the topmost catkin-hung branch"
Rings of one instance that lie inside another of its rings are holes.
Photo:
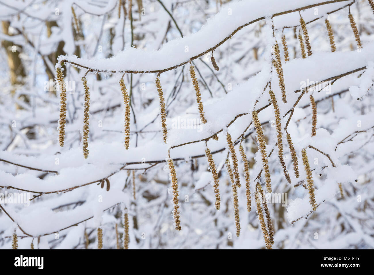
[[[337,9],[350,1],[342,1],[329,5],[331,9],[321,8],[318,16],[323,12]],[[321,3],[319,0],[304,0],[302,6]],[[153,71],[174,67],[188,61],[214,47],[230,34],[249,22],[264,19],[275,13],[294,10],[301,7],[300,1],[278,0],[246,0],[230,2],[224,5],[217,15],[207,20],[207,23],[196,33],[183,38],[177,38],[164,44],[159,51],[128,48],[108,59],[82,59],[75,55],[59,56],[58,62],[68,60],[86,67],[104,71]],[[292,23],[281,21],[281,23]],[[283,26],[282,26],[283,27]],[[207,39],[209,37],[209,39]],[[173,58],[169,58],[173,56]]]

